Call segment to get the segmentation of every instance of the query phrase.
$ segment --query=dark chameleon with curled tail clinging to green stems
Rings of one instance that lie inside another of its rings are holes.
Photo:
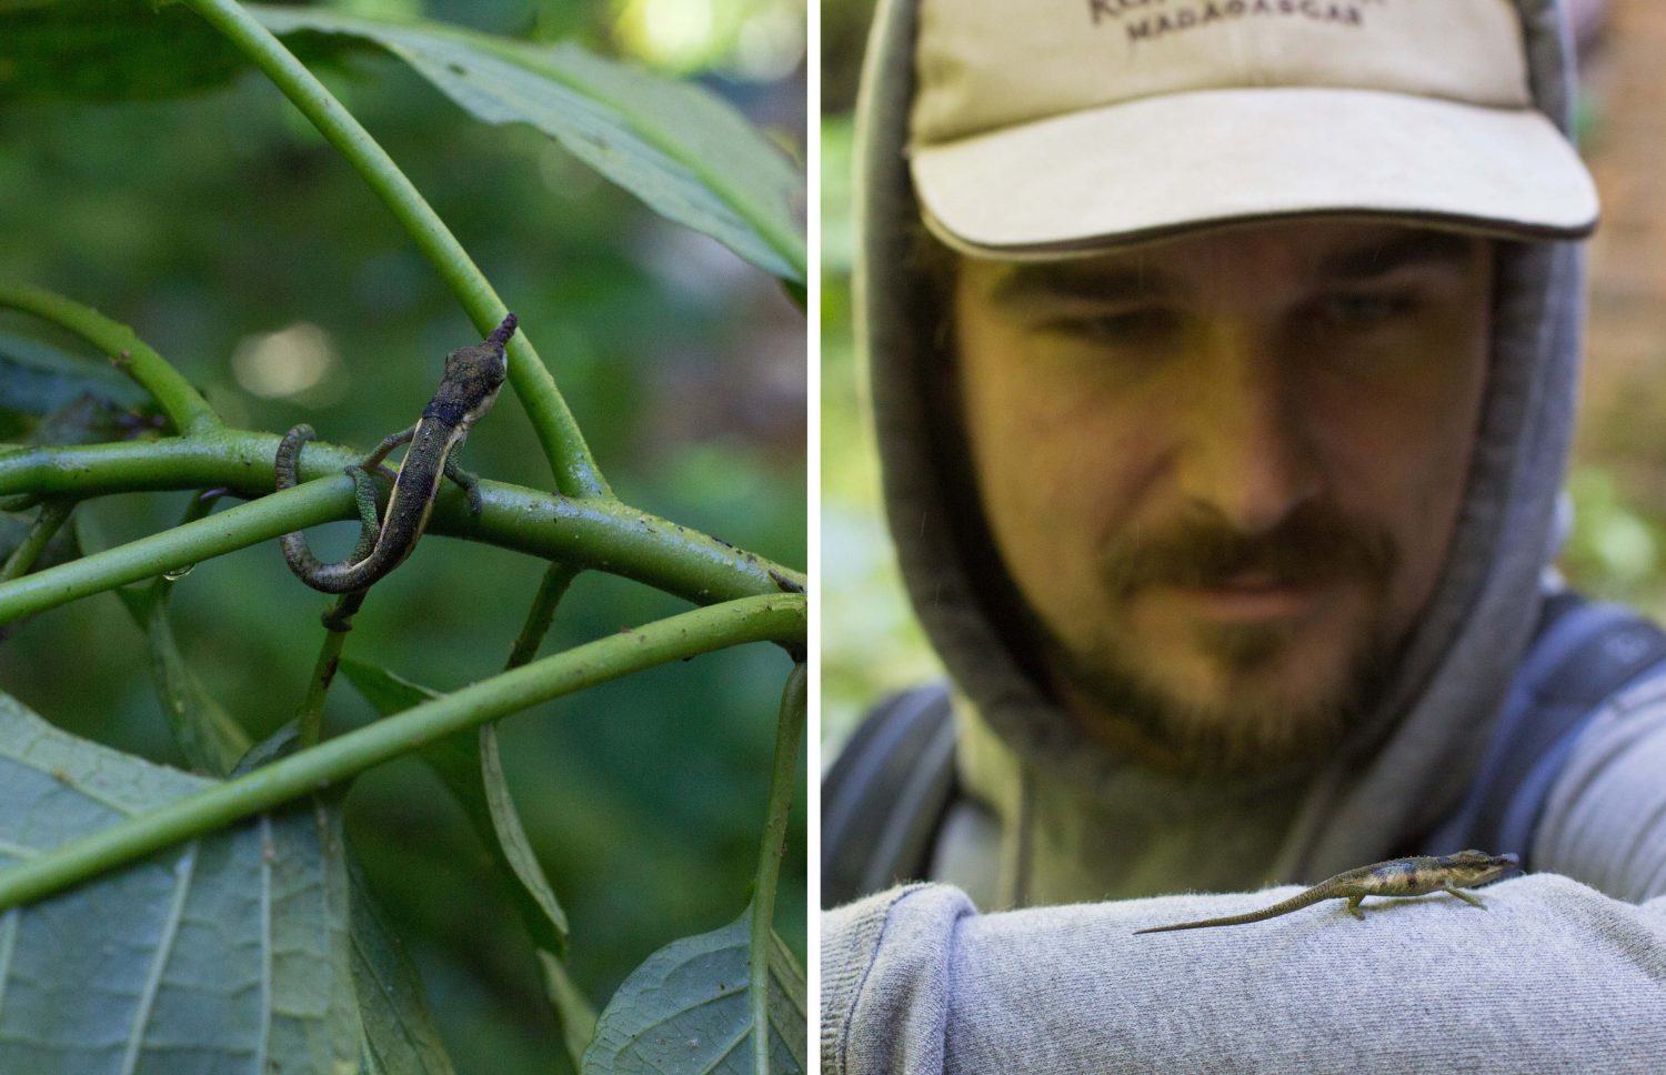
[[[485,342],[460,347],[446,355],[440,388],[423,408],[421,420],[387,437],[363,462],[347,468],[357,490],[360,518],[358,545],[347,560],[323,563],[312,553],[307,537],[298,530],[283,535],[283,558],[302,582],[325,593],[362,593],[370,588],[416,547],[433,512],[441,477],[461,485],[468,493],[468,508],[480,515],[480,480],[456,465],[456,450],[468,437],[470,427],[498,398],[498,388],[508,375],[503,348],[511,335],[515,335],[513,313],[506,315]],[[302,445],[313,437],[310,425],[297,425],[278,442],[275,460],[278,490],[297,483]],[[387,475],[382,460],[402,443],[410,443],[410,450],[400,460],[388,508],[378,520],[377,485],[370,472]]]

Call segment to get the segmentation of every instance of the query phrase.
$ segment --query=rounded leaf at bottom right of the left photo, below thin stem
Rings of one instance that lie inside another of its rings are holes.
[[[601,1012],[585,1075],[753,1072],[750,937],[748,910],[650,955]],[[780,937],[770,942],[770,1072],[803,1072],[805,975]]]

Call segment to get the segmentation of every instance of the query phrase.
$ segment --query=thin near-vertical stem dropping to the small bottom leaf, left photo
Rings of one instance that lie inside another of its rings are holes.
[[[803,662],[793,665],[781,690],[781,715],[775,725],[775,767],[770,772],[770,813],[758,848],[758,877],[751,890],[751,1067],[770,1075],[770,947],[775,940],[775,887],[781,877],[786,845],[786,815],[798,783],[798,742],[805,737],[805,693],[808,675]]]

